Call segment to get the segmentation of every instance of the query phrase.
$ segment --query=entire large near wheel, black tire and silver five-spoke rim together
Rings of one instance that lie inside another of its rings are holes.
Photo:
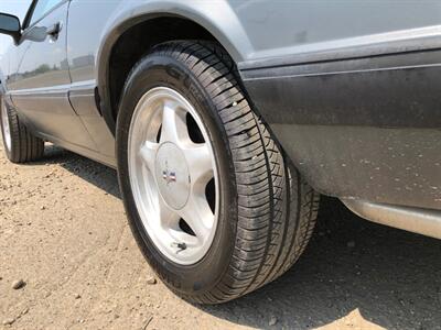
[[[227,301],[283,274],[303,251],[319,196],[250,108],[213,43],[157,46],[129,75],[118,177],[146,258],[178,295]]]

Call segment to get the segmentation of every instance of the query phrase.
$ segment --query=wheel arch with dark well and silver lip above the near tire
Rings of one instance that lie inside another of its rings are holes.
[[[180,3],[179,6],[174,3],[166,11],[159,7],[160,2],[150,3],[150,8],[130,8],[129,13],[121,10],[121,14],[112,19],[105,29],[106,34],[101,38],[97,54],[97,88],[100,111],[114,135],[119,97],[126,77],[132,65],[152,46],[171,40],[202,38],[217,42],[236,63],[241,62],[246,54],[251,53],[247,34],[227,2],[220,2],[222,6],[218,4],[219,8],[215,11],[207,6],[194,9]],[[133,15],[133,12],[137,15]],[[225,20],[225,18],[228,19]],[[179,25],[180,29],[174,30],[176,33],[149,34],[147,32],[165,26],[170,31],[170,24]],[[118,57],[121,53],[118,52],[133,35],[139,36],[140,32],[142,32],[141,43],[132,43],[136,47],[130,50],[131,53],[125,53],[123,55],[128,56],[122,56],[125,58],[121,62],[121,56]]]

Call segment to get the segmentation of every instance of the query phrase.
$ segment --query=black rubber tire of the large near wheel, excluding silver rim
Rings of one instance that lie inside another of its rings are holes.
[[[130,184],[133,111],[158,87],[183,95],[200,114],[219,178],[212,245],[190,265],[171,261],[153,243]],[[214,43],[168,42],[135,65],[118,112],[117,158],[121,195],[138,245],[160,278],[189,301],[219,304],[273,280],[298,260],[313,231],[319,195],[283,158],[252,111],[235,64]]]

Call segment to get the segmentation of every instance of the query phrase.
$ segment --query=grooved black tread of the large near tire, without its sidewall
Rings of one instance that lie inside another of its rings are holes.
[[[236,241],[229,266],[207,290],[194,295],[175,292],[192,302],[228,301],[276,279],[298,260],[314,227],[319,195],[300,177],[252,110],[237,68],[220,46],[172,41],[157,45],[151,53],[186,66],[208,94],[227,136],[238,206],[237,219],[232,220],[236,221]],[[166,278],[164,282],[168,284]]]

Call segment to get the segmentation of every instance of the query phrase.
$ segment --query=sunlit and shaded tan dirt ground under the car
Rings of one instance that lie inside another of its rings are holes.
[[[114,169],[53,146],[29,165],[0,154],[0,329],[441,329],[441,241],[323,199],[284,276],[229,304],[192,306],[149,284]]]

